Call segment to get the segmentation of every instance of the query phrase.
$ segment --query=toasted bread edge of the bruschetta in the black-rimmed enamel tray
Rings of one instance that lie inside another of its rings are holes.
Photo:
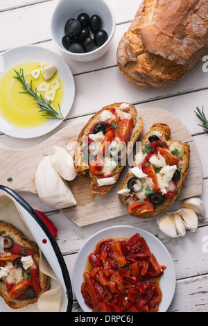
[[[6,223],[4,221],[0,221],[0,234],[2,236],[8,236],[13,239],[13,241],[21,246],[24,246],[30,250],[33,250],[35,254],[33,255],[33,258],[35,261],[37,261],[37,264],[39,265],[40,261],[40,255],[39,255],[39,249],[37,246],[37,243],[34,241],[29,240],[24,236],[24,234],[17,228],[15,228],[14,225],[10,223]],[[5,282],[1,280],[0,282],[0,295],[3,298],[3,300],[8,304],[8,306],[12,309],[20,309],[26,307],[28,304],[33,304],[37,302],[38,298],[42,293],[45,291],[48,291],[51,287],[51,282],[50,282],[50,277],[45,275],[40,271],[40,288],[41,291],[37,293],[35,298],[30,299],[30,300],[17,300],[16,298],[9,299],[7,298],[8,296],[8,289],[6,287]]]

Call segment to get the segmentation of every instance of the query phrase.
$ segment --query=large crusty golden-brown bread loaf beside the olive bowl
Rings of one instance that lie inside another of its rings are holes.
[[[208,53],[205,0],[144,0],[117,49],[135,87],[171,87]]]

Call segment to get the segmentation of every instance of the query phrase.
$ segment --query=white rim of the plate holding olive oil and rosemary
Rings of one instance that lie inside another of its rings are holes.
[[[47,62],[50,65],[55,65],[58,69],[58,74],[62,79],[64,85],[64,90],[67,89],[67,92],[64,92],[64,100],[61,106],[62,116],[65,118],[71,106],[73,104],[74,94],[75,94],[75,85],[73,81],[73,75],[68,65],[59,55],[53,53],[48,49],[44,49],[41,46],[36,45],[26,45],[19,46],[15,49],[10,49],[0,55],[0,78],[3,74],[3,71],[6,71],[10,67],[17,65],[21,62],[26,62],[28,60],[35,60],[40,62]],[[42,126],[37,128],[18,128],[10,125],[7,121],[3,119],[0,115],[0,130],[6,135],[17,137],[17,138],[35,138],[46,133],[51,132],[53,129],[58,127],[63,120],[48,120]]]

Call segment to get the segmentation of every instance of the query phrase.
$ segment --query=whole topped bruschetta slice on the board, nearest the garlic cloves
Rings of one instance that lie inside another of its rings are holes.
[[[153,135],[154,138],[152,137],[149,140],[149,137]],[[139,170],[130,169],[119,188],[118,194],[121,203],[128,205],[128,213],[132,216],[139,218],[153,217],[171,206],[180,194],[189,168],[190,147],[187,143],[182,144],[181,141],[169,140],[170,135],[171,129],[168,125],[165,123],[155,123],[141,141],[141,149],[135,155],[135,164],[133,166],[133,168],[139,168]],[[163,154],[164,157],[162,156],[164,151],[158,149],[162,147],[158,146],[159,142],[153,143],[153,139],[162,141],[160,145],[164,146],[164,150],[170,153],[168,156],[173,155],[171,156],[172,162],[168,161],[167,164],[166,155]],[[152,158],[150,158],[151,156]],[[177,160],[179,161],[177,162]],[[175,164],[173,164],[174,162]],[[146,166],[152,166],[155,171],[153,171],[157,179],[155,182],[153,182],[154,179],[150,178],[150,174],[146,174]],[[137,177],[138,172],[139,176],[141,176],[139,179],[141,181],[139,183],[141,189],[136,187],[131,191],[128,187],[132,189],[132,182],[137,180],[132,179],[136,178],[133,172],[137,173]],[[157,196],[157,194],[159,195]],[[137,207],[135,203],[143,205],[140,205],[140,207],[138,205]],[[145,204],[148,206],[148,210],[145,209],[147,207]]]

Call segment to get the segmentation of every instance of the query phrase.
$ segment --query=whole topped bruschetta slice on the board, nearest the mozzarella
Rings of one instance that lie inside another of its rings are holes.
[[[89,119],[73,160],[78,175],[92,178],[92,194],[104,195],[114,186],[142,130],[143,120],[128,103],[107,105]]]

